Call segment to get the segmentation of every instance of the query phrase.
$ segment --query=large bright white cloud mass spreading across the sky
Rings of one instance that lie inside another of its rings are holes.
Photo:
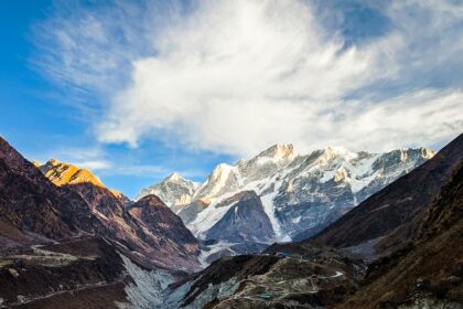
[[[463,83],[449,74],[463,73],[463,9],[431,2],[391,1],[390,30],[348,47],[302,1],[200,1],[182,17],[173,6],[136,21],[121,6],[77,28],[55,23],[61,47],[46,67],[105,89],[104,142],[152,138],[239,156],[274,142],[431,145],[463,129]]]

